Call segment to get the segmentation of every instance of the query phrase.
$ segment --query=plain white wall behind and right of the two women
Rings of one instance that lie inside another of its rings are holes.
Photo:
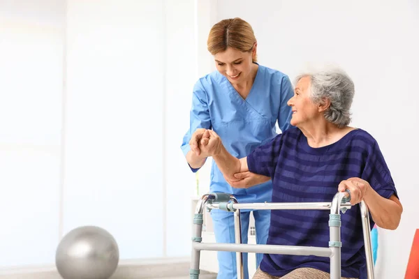
[[[353,77],[352,125],[378,140],[404,205],[399,228],[379,231],[377,278],[403,278],[419,228],[417,1],[218,1],[213,24],[228,17],[252,25],[265,66],[293,78],[330,63]]]

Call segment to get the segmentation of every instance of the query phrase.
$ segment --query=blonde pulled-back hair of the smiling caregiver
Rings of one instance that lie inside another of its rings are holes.
[[[255,43],[256,37],[251,25],[235,17],[214,24],[208,36],[207,49],[212,55],[224,52],[228,47],[251,52]],[[256,62],[256,56],[252,60]]]

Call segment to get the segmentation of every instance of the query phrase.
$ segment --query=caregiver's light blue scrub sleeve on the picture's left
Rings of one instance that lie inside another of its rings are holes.
[[[208,109],[207,93],[205,92],[203,84],[200,80],[198,80],[195,86],[193,86],[192,107],[189,114],[189,130],[184,135],[182,146],[180,146],[184,156],[186,156],[186,154],[191,150],[189,141],[191,140],[192,134],[198,128],[212,128],[210,111]],[[192,172],[198,171],[198,169],[194,169],[192,167],[191,170]]]

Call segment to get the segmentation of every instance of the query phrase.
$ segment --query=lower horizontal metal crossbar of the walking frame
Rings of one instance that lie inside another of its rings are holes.
[[[192,243],[195,250],[208,251],[240,251],[255,252],[265,254],[283,254],[283,255],[302,255],[302,256],[318,256],[331,257],[332,250],[324,247],[309,246],[281,246],[267,244],[232,244],[232,243]],[[340,278],[339,278],[340,279]]]

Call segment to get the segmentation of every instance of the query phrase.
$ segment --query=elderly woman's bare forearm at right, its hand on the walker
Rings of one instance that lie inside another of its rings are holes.
[[[369,188],[365,193],[364,202],[378,227],[397,229],[402,218],[403,206],[395,195],[386,199],[378,195],[373,188]]]

